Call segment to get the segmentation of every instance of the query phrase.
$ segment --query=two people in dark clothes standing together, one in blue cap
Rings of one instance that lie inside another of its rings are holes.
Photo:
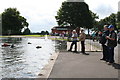
[[[114,48],[117,46],[117,33],[114,31],[113,25],[104,26],[100,43],[103,48],[103,57],[100,60],[104,60],[108,62],[108,64],[114,63]]]

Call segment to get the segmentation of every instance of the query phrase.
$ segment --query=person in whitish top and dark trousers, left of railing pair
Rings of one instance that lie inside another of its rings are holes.
[[[78,34],[77,34],[76,30],[73,30],[73,32],[72,32],[72,39],[73,40],[72,40],[70,49],[68,51],[72,51],[73,45],[75,45],[74,52],[77,52],[77,41],[78,41],[77,37],[78,37]]]

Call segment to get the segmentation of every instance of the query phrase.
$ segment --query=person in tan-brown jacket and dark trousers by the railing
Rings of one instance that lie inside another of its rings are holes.
[[[86,39],[86,34],[84,33],[84,30],[81,30],[80,33],[80,41],[81,41],[81,52],[85,55],[88,55],[87,53],[85,53],[85,39]]]

